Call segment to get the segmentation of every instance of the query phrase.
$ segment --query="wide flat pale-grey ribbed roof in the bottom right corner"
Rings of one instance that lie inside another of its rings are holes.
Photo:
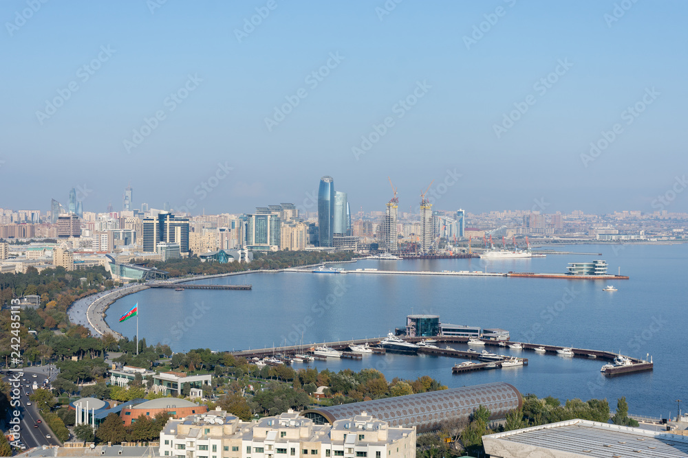
[[[527,453],[572,458],[688,457],[688,437],[589,420],[533,426],[486,435],[482,439],[486,453],[503,458],[522,457]]]

